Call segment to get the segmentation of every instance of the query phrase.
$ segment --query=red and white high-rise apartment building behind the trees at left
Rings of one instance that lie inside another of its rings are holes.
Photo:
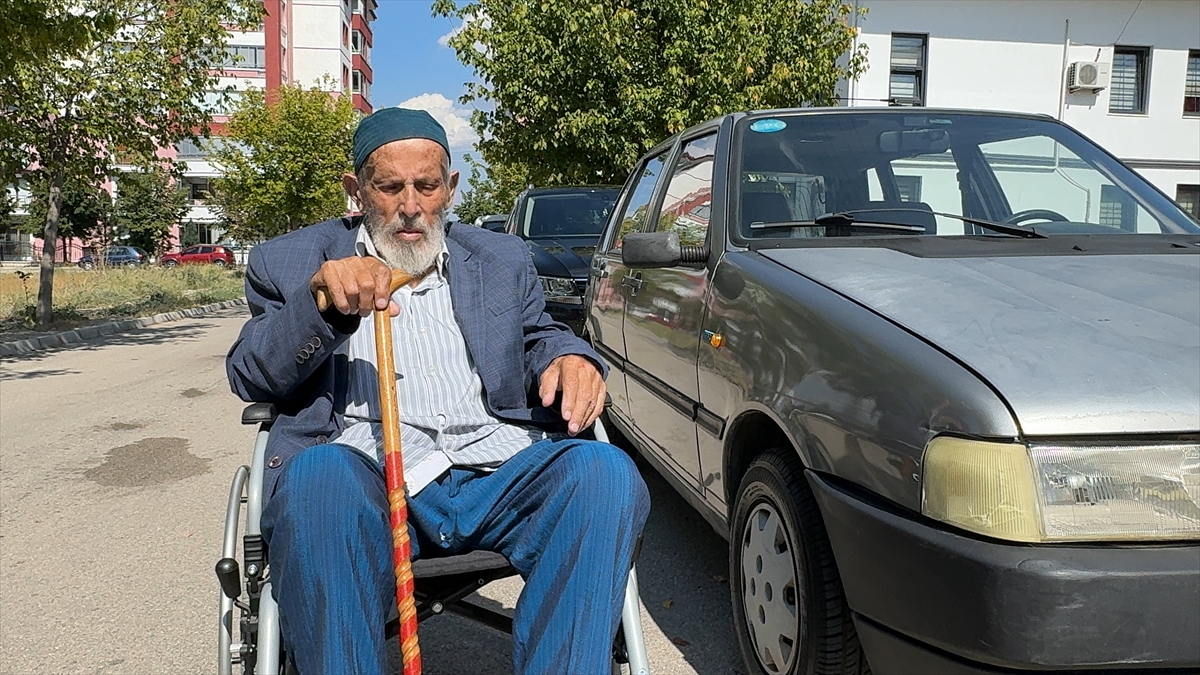
[[[222,143],[228,113],[239,92],[247,89],[277,89],[282,84],[300,84],[325,89],[331,96],[350,95],[354,107],[370,114],[371,44],[374,35],[377,0],[265,0],[266,16],[257,30],[229,31],[226,60],[220,78],[204,104],[214,115],[212,138],[203,144],[179,143],[174,156],[186,166],[184,186],[191,201],[182,222],[173,228],[175,247],[221,241],[217,215],[209,207],[209,187],[220,175],[210,161],[212,150]],[[232,96],[222,91],[232,86]],[[119,180],[115,186],[120,190]],[[17,215],[29,195],[22,186],[10,186],[18,201]],[[80,241],[61,241],[56,257],[77,261],[88,246]],[[41,239],[0,227],[0,262],[28,262],[41,253]]]

